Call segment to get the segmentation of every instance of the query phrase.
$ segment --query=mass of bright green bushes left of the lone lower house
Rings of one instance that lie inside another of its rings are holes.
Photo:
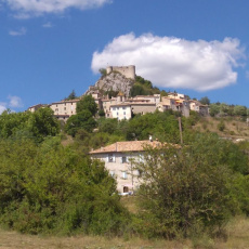
[[[126,210],[100,161],[45,141],[2,141],[0,222],[22,233],[119,234]]]

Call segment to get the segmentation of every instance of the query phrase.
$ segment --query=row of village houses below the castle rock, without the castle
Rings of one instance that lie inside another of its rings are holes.
[[[106,118],[117,118],[118,120],[129,120],[133,115],[154,113],[156,110],[165,112],[172,109],[180,112],[184,117],[189,116],[189,110],[195,110],[201,116],[209,115],[209,106],[202,105],[195,100],[187,100],[187,96],[180,93],[169,93],[167,96],[160,94],[154,95],[136,95],[134,97],[127,97],[121,92],[116,97],[103,96],[100,91],[91,92],[99,109],[103,109]],[[71,115],[76,114],[76,106],[79,99],[69,101],[54,102],[50,105],[35,105],[29,107],[30,112],[49,106],[54,116],[66,121]]]

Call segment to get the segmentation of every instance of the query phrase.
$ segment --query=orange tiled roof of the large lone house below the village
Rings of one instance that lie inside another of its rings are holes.
[[[152,146],[153,148],[161,146],[161,143],[158,141],[126,141],[117,142],[110,145],[107,145],[102,148],[90,152],[90,154],[101,154],[101,153],[121,153],[121,152],[143,152],[146,146]]]

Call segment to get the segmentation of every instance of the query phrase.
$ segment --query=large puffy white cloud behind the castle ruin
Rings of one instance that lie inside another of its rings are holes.
[[[235,83],[245,57],[238,39],[188,41],[174,37],[128,34],[94,52],[92,70],[107,65],[135,65],[136,74],[157,87],[207,91]]]

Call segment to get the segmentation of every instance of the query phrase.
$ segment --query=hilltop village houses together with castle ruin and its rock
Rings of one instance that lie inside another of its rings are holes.
[[[167,96],[153,94],[131,97],[130,90],[134,80],[135,66],[109,66],[106,68],[106,74],[101,77],[95,86],[90,87],[83,95],[91,94],[99,109],[104,112],[106,118],[117,118],[118,120],[129,120],[136,114],[144,115],[168,109],[180,112],[184,117],[189,116],[189,110],[197,112],[201,116],[209,115],[208,105],[202,105],[196,100],[189,100],[187,95],[181,93],[169,92]],[[109,91],[117,92],[116,96],[106,94]],[[66,121],[76,114],[76,106],[79,100],[64,100],[49,105],[38,104],[29,107],[28,110],[35,112],[38,108],[49,106],[58,120]]]

